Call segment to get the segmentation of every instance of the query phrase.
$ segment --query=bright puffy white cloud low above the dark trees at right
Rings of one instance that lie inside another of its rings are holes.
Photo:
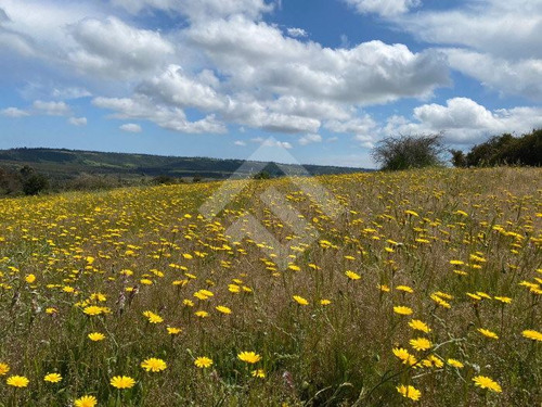
[[[472,144],[489,135],[524,133],[542,127],[542,107],[489,111],[468,98],[453,98],[446,106],[431,103],[414,109],[412,119],[392,116],[385,135],[435,133],[443,131],[448,142]]]

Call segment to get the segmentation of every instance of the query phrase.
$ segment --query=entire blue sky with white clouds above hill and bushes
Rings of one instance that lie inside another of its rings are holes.
[[[0,0],[0,149],[374,167],[542,127],[542,0]]]

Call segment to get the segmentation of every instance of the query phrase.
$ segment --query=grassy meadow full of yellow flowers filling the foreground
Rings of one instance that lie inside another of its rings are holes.
[[[215,217],[220,182],[2,200],[0,406],[540,406],[541,179],[258,180]],[[250,216],[286,249],[228,236]]]

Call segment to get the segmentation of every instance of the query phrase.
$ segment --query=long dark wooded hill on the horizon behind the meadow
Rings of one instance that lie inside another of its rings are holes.
[[[235,173],[244,163],[243,160],[104,153],[66,149],[23,148],[0,150],[0,166],[20,169],[28,165],[56,181],[75,179],[83,174],[109,175],[121,178],[168,176],[175,178],[224,179]],[[256,164],[255,162],[255,166]],[[305,168],[311,175],[350,174],[370,170],[323,165],[281,166],[287,167],[292,174],[302,174]],[[254,175],[250,165],[245,165],[244,168],[247,168],[247,177]],[[271,177],[283,175],[283,171],[274,163],[268,164],[264,170]]]

